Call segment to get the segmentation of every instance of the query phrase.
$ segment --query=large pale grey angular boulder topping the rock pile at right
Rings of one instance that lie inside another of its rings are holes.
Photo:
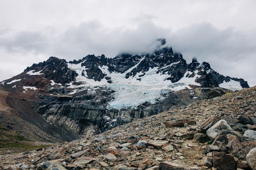
[[[228,132],[233,132],[233,129],[228,125],[226,120],[220,120],[216,124],[214,124],[211,128],[209,128],[206,133],[207,136],[211,139],[215,139],[218,134],[221,134],[221,132],[228,131]]]

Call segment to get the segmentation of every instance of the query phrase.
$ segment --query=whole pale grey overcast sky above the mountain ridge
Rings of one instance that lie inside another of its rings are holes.
[[[0,81],[50,56],[115,57],[166,38],[187,62],[256,85],[256,1],[1,0]]]

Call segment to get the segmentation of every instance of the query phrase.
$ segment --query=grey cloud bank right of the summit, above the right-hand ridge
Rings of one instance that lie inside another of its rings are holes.
[[[256,29],[249,32],[234,28],[217,29],[204,22],[172,32],[169,45],[190,60],[197,57],[207,61],[221,74],[241,77],[256,85],[254,63],[256,62]]]

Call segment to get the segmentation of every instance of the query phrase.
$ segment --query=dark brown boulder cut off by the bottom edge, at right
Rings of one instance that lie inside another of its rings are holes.
[[[225,154],[225,152],[212,152],[212,164],[220,170],[233,170],[236,168],[234,157]]]

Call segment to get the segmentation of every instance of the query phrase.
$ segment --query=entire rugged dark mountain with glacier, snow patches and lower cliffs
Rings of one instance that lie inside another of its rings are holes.
[[[187,64],[164,39],[159,41],[154,53],[87,55],[69,62],[50,57],[33,64],[0,83],[6,106],[15,111],[12,118],[40,129],[38,138],[71,141],[175,105],[249,87],[241,78],[217,73],[207,62],[194,58]],[[6,124],[4,117],[10,113],[2,114],[1,124]],[[45,133],[51,138],[41,135]]]

